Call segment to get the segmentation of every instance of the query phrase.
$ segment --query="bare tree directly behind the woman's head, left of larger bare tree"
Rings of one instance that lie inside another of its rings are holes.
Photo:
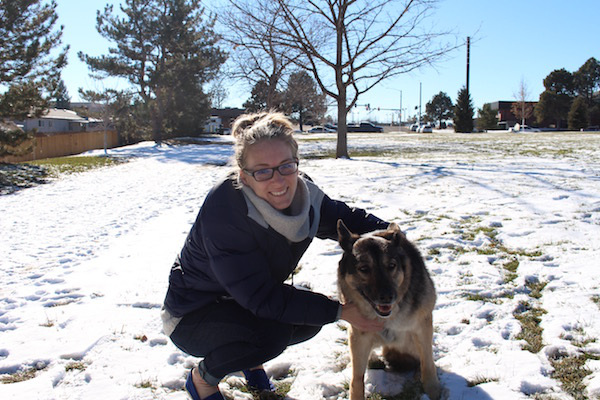
[[[274,0],[230,0],[220,16],[223,39],[232,47],[230,76],[250,87],[266,83],[267,108],[278,108],[282,77],[297,58],[297,53],[280,43],[281,7]]]

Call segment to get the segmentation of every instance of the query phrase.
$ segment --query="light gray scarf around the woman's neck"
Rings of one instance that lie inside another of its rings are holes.
[[[298,243],[307,237],[315,237],[321,218],[321,202],[325,194],[311,181],[298,177],[298,187],[290,205],[290,215],[273,208],[266,200],[254,193],[252,188],[239,182],[248,206],[248,216],[264,228],[269,226],[290,242]],[[309,211],[313,207],[313,224]]]

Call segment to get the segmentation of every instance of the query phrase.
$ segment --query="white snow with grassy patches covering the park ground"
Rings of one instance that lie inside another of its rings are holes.
[[[298,136],[302,155],[334,148],[318,137]],[[113,149],[130,161],[0,196],[0,378],[35,371],[0,384],[0,398],[186,398],[198,360],[162,333],[159,310],[204,196],[231,169],[229,140]],[[423,253],[438,291],[444,398],[571,398],[550,359],[600,355],[600,136],[351,134],[349,144],[388,155],[308,158],[301,169],[331,197],[398,222]],[[340,254],[315,240],[294,283],[336,296]],[[547,283],[539,298],[536,282]],[[546,311],[538,353],[518,339],[522,302]],[[347,398],[344,328],[327,325],[266,364],[291,384],[289,398]],[[600,361],[585,366],[585,395],[600,396]],[[407,381],[412,373],[369,370],[367,390],[394,394]],[[250,399],[242,382],[234,374],[221,389]]]

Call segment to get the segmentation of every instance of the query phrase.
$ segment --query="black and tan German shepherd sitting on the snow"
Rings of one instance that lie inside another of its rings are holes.
[[[425,393],[438,400],[432,319],[436,294],[421,254],[394,223],[362,236],[350,232],[341,220],[337,228],[344,250],[338,268],[341,300],[356,304],[368,318],[384,320],[379,333],[350,327],[350,400],[364,400],[365,371],[371,351],[379,346],[392,366],[406,366],[407,360],[420,365]]]

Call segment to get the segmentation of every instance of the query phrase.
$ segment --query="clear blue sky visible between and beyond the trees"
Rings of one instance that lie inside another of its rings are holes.
[[[72,101],[78,100],[78,88],[125,88],[118,81],[98,82],[88,76],[85,64],[77,52],[90,55],[106,54],[109,43],[95,29],[96,10],[119,0],[58,0],[59,23],[64,25],[63,42],[71,46],[69,65],[63,71]],[[212,0],[218,4],[219,0]],[[577,70],[587,59],[600,59],[600,2],[598,0],[442,0],[430,22],[441,29],[451,29],[459,40],[471,36],[470,92],[473,104],[497,100],[514,100],[521,81],[530,100],[537,100],[543,91],[543,79],[553,70]],[[363,95],[360,104],[371,108],[399,108],[402,91],[404,115],[414,115],[440,91],[453,101],[466,80],[466,48],[451,53],[435,68],[399,76],[381,83]],[[249,90],[240,84],[230,89],[225,105],[239,107],[249,97]],[[359,107],[349,119],[389,121],[391,111],[371,111]],[[397,117],[394,117],[397,118]]]

